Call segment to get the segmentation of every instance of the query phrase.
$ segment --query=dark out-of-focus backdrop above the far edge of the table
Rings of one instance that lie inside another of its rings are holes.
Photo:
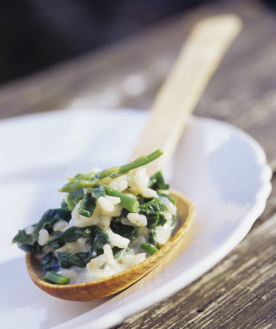
[[[224,1],[231,4],[241,1]],[[263,0],[272,9],[273,0]],[[211,0],[1,1],[0,83],[135,35]],[[248,8],[250,10],[250,8]]]

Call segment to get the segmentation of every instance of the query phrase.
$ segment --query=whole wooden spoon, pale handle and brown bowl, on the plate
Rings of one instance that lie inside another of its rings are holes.
[[[212,16],[195,25],[180,55],[160,89],[152,106],[150,121],[138,142],[131,160],[149,154],[157,148],[164,155],[147,165],[149,173],[162,169],[171,158],[189,114],[215,72],[227,48],[241,30],[242,22],[236,15]],[[73,300],[90,301],[119,292],[142,278],[190,228],[195,209],[189,198],[171,191],[177,197],[177,215],[181,227],[158,252],[125,271],[103,279],[69,285],[53,285],[43,281],[40,262],[33,254],[27,254],[29,275],[37,287],[52,296]]]

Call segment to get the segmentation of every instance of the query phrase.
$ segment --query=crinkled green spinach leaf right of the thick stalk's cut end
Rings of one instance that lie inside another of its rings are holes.
[[[164,203],[156,198],[139,206],[139,214],[145,215],[147,217],[148,228],[163,226],[167,222],[162,213],[164,210]]]

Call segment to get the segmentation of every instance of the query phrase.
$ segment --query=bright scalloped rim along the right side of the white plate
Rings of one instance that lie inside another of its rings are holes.
[[[153,306],[157,302],[160,302],[161,300],[164,300],[165,298],[171,296],[175,292],[183,289],[184,287],[186,287],[187,285],[198,279],[200,276],[205,274],[207,271],[209,271],[213,266],[218,264],[218,262],[221,261],[228,253],[230,253],[247,235],[254,222],[264,212],[264,209],[266,207],[266,201],[272,190],[272,184],[271,184],[272,169],[267,163],[266,154],[260,143],[257,142],[256,139],[254,139],[248,133],[244,132],[242,129],[218,119],[192,115],[190,120],[192,122],[197,121],[196,123],[200,125],[203,125],[204,122],[208,121],[227,127],[228,129],[231,129],[231,131],[233,131],[236,134],[236,136],[245,140],[255,151],[254,153],[256,154],[256,163],[258,163],[262,167],[262,172],[260,174],[262,186],[259,190],[259,193],[257,193],[255,196],[254,205],[252,205],[248,213],[242,218],[242,222],[239,228],[235,230],[210,255],[199,261],[194,266],[190,267],[184,273],[177,275],[175,278],[170,280],[170,282],[163,284],[162,286],[154,289],[153,291],[146,293],[143,296],[138,297],[137,299],[129,302],[127,305],[123,304],[122,306],[116,308],[116,310],[111,310],[110,312],[106,312],[103,316],[92,318],[91,320],[86,319],[85,323],[83,324],[80,323],[80,325],[78,325],[79,329],[90,328],[92,324],[93,327],[96,329],[110,328],[124,321],[128,317]],[[189,275],[191,273],[193,275]],[[93,311],[100,309],[101,307],[104,307],[104,305],[108,303],[109,301],[96,307],[95,309],[93,309]],[[88,311],[88,313],[89,312],[90,311]],[[81,317],[84,318],[85,314],[87,313],[84,313],[81,316],[66,321],[58,326],[55,326],[52,329],[76,328],[76,324],[74,325],[73,323],[78,318],[81,321],[83,321]],[[87,314],[87,318],[88,317],[89,315]],[[73,326],[71,326],[71,323]],[[104,325],[104,323],[108,323],[108,325]]]

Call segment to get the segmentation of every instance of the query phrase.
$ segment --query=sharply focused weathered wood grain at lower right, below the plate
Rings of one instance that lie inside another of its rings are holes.
[[[276,175],[264,214],[241,243],[200,279],[113,329],[274,328]]]

